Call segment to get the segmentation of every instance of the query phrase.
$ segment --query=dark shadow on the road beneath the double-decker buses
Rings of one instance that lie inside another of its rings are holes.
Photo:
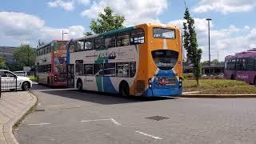
[[[113,105],[113,104],[120,104],[120,103],[131,103],[131,102],[149,102],[149,101],[159,101],[159,100],[167,100],[167,99],[175,99],[175,98],[166,98],[166,97],[121,97],[118,94],[109,94],[109,93],[102,93],[102,92],[95,92],[89,90],[73,90],[73,89],[66,89],[63,87],[55,87],[51,89],[47,86],[34,86],[33,90],[40,90],[40,92],[45,94],[56,95],[64,98],[74,98],[86,102],[94,102],[99,103],[102,105]]]

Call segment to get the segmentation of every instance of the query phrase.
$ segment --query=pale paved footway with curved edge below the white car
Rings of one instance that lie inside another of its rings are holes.
[[[27,91],[2,93],[0,98],[0,143],[18,143],[12,127],[32,106],[37,98]]]

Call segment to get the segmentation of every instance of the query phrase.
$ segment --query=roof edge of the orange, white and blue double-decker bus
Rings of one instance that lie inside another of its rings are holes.
[[[164,25],[164,24],[158,24],[158,23],[143,23],[143,24],[137,25],[137,26],[145,26],[145,25],[150,26],[150,27],[166,27],[166,28],[171,28],[171,29],[179,29],[177,26]],[[111,31],[108,31],[108,32],[104,32],[102,34],[94,34],[94,35],[90,35],[90,36],[86,36],[86,37],[82,37],[82,38],[74,38],[74,41],[79,41],[79,40],[87,39],[87,38],[94,38],[94,37],[98,37],[98,36],[105,36],[105,35],[125,32],[127,30],[132,30],[137,26],[130,26],[130,27],[126,27],[126,28],[122,28],[122,29],[118,29],[118,30],[111,30]]]

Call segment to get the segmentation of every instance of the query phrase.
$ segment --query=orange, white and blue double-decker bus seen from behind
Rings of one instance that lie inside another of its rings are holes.
[[[72,39],[67,63],[70,86],[78,90],[146,97],[182,94],[176,26],[142,24]]]

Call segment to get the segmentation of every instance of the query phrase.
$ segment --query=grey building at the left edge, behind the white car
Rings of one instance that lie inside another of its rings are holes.
[[[0,56],[6,58],[6,65],[11,66],[15,63],[14,50],[17,47],[12,46],[0,46]]]

